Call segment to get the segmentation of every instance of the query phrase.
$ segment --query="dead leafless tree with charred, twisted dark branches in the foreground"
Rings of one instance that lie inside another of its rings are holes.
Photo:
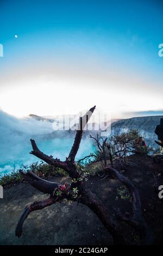
[[[96,106],[95,106],[96,107]],[[118,173],[117,170],[105,167],[106,172],[109,173],[112,177],[120,180],[129,190],[133,198],[133,217],[128,215],[122,215],[118,210],[115,215],[110,215],[108,209],[105,208],[104,204],[99,200],[96,194],[92,193],[90,189],[85,184],[85,176],[82,172],[77,170],[75,163],[75,157],[79,149],[80,141],[82,139],[83,130],[87,121],[90,119],[95,107],[92,107],[83,117],[79,118],[78,129],[76,132],[76,137],[74,138],[74,143],[72,145],[70,154],[66,157],[65,161],[60,161],[59,159],[54,159],[53,156],[48,156],[40,151],[37,147],[35,141],[31,139],[32,143],[32,152],[30,154],[39,157],[39,159],[45,161],[48,164],[51,164],[54,167],[59,167],[64,169],[69,176],[72,178],[71,184],[58,184],[56,182],[50,182],[44,179],[39,178],[33,172],[24,173],[21,171],[23,178],[27,180],[33,187],[37,190],[49,194],[49,198],[42,200],[40,202],[34,202],[31,205],[28,205],[17,223],[15,234],[20,237],[22,234],[23,223],[30,214],[30,212],[35,210],[40,210],[55,204],[62,199],[68,199],[73,201],[78,201],[86,206],[88,206],[101,220],[104,227],[108,229],[109,233],[112,235],[113,242],[115,244],[124,244],[126,241],[121,234],[119,229],[118,219],[126,221],[128,224],[132,225],[136,230],[140,232],[142,237],[142,243],[151,244],[155,242],[155,234],[148,227],[145,220],[143,220],[141,212],[141,202],[139,197],[139,192],[136,190],[133,184],[125,178],[122,174]]]

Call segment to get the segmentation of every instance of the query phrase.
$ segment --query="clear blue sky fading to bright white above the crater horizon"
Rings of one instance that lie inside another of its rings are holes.
[[[162,110],[162,10],[152,0],[1,0],[0,106],[17,116]]]

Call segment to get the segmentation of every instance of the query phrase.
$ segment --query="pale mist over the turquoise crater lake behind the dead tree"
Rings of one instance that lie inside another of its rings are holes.
[[[22,164],[29,166],[30,163],[40,161],[29,154],[32,149],[30,138],[34,138],[40,150],[46,154],[65,160],[74,140],[74,137],[67,134],[65,131],[54,132],[52,123],[47,121],[37,121],[29,117],[19,119],[0,111],[0,174],[17,170]],[[84,139],[77,158],[92,151],[92,142]]]

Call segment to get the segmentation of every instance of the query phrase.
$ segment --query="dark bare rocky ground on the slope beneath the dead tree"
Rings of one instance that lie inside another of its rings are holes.
[[[163,185],[163,163],[154,163],[149,156],[128,157],[128,167],[123,171],[140,192],[143,214],[155,230],[162,229],[163,199],[154,192],[153,170]],[[50,180],[65,182],[67,177],[51,177]],[[119,181],[101,180],[90,177],[87,185],[108,208],[130,211],[128,194]],[[123,199],[122,199],[122,198]],[[26,205],[47,198],[27,183],[18,184],[4,190],[0,200],[0,245],[108,245],[111,236],[95,214],[82,204],[54,204],[46,209],[32,212],[23,225],[22,236],[15,237],[18,218]],[[124,237],[131,243],[139,243],[139,236],[127,224],[121,223]]]

